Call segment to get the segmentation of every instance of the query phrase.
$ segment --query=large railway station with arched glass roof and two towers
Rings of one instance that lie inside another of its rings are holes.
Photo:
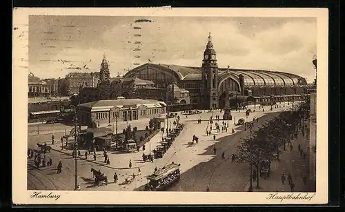
[[[157,99],[168,105],[202,105],[202,108],[210,109],[224,108],[226,104],[298,101],[310,96],[308,87],[311,86],[303,77],[290,73],[219,68],[210,35],[201,67],[144,64],[112,81],[108,73],[104,57],[99,86],[81,86],[79,89],[83,102],[123,96],[127,99]]]

